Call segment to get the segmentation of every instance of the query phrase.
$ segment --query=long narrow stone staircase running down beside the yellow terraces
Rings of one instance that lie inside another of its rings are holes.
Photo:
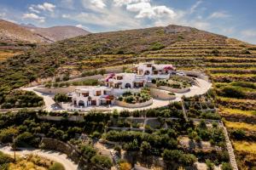
[[[235,157],[235,154],[234,154],[232,144],[230,142],[228,131],[227,131],[226,127],[224,127],[223,122],[221,122],[221,125],[224,129],[224,136],[225,136],[225,141],[226,141],[226,144],[227,144],[227,150],[228,150],[229,155],[230,155],[231,167],[233,168],[233,170],[238,170],[238,167],[237,167],[237,164],[236,164],[236,157]]]

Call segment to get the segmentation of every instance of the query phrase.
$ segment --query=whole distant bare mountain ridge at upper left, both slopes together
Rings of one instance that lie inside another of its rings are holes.
[[[0,19],[1,42],[48,43],[70,37],[87,35],[89,33],[89,31],[85,31],[76,26],[52,26],[49,28],[40,28],[31,24],[19,25]]]

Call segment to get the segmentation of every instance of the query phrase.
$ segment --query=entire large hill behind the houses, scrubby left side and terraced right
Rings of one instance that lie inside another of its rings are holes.
[[[38,77],[52,77],[153,60],[177,69],[206,71],[226,119],[240,169],[256,150],[256,46],[184,26],[90,34],[36,47],[0,65],[2,98]],[[1,101],[1,94],[0,94]],[[242,124],[241,124],[242,123]],[[255,161],[254,161],[255,162]]]

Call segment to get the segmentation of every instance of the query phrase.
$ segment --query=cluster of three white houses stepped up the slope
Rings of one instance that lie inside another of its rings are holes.
[[[83,108],[88,106],[113,105],[115,97],[127,91],[140,92],[147,82],[153,78],[169,78],[172,71],[176,71],[173,65],[157,65],[154,62],[134,65],[132,73],[112,73],[101,79],[104,86],[77,88],[70,97],[70,108]]]

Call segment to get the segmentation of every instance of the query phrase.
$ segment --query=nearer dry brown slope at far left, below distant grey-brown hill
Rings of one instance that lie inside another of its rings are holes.
[[[28,31],[22,26],[6,20],[0,20],[0,41],[1,42],[49,42],[44,37]]]

